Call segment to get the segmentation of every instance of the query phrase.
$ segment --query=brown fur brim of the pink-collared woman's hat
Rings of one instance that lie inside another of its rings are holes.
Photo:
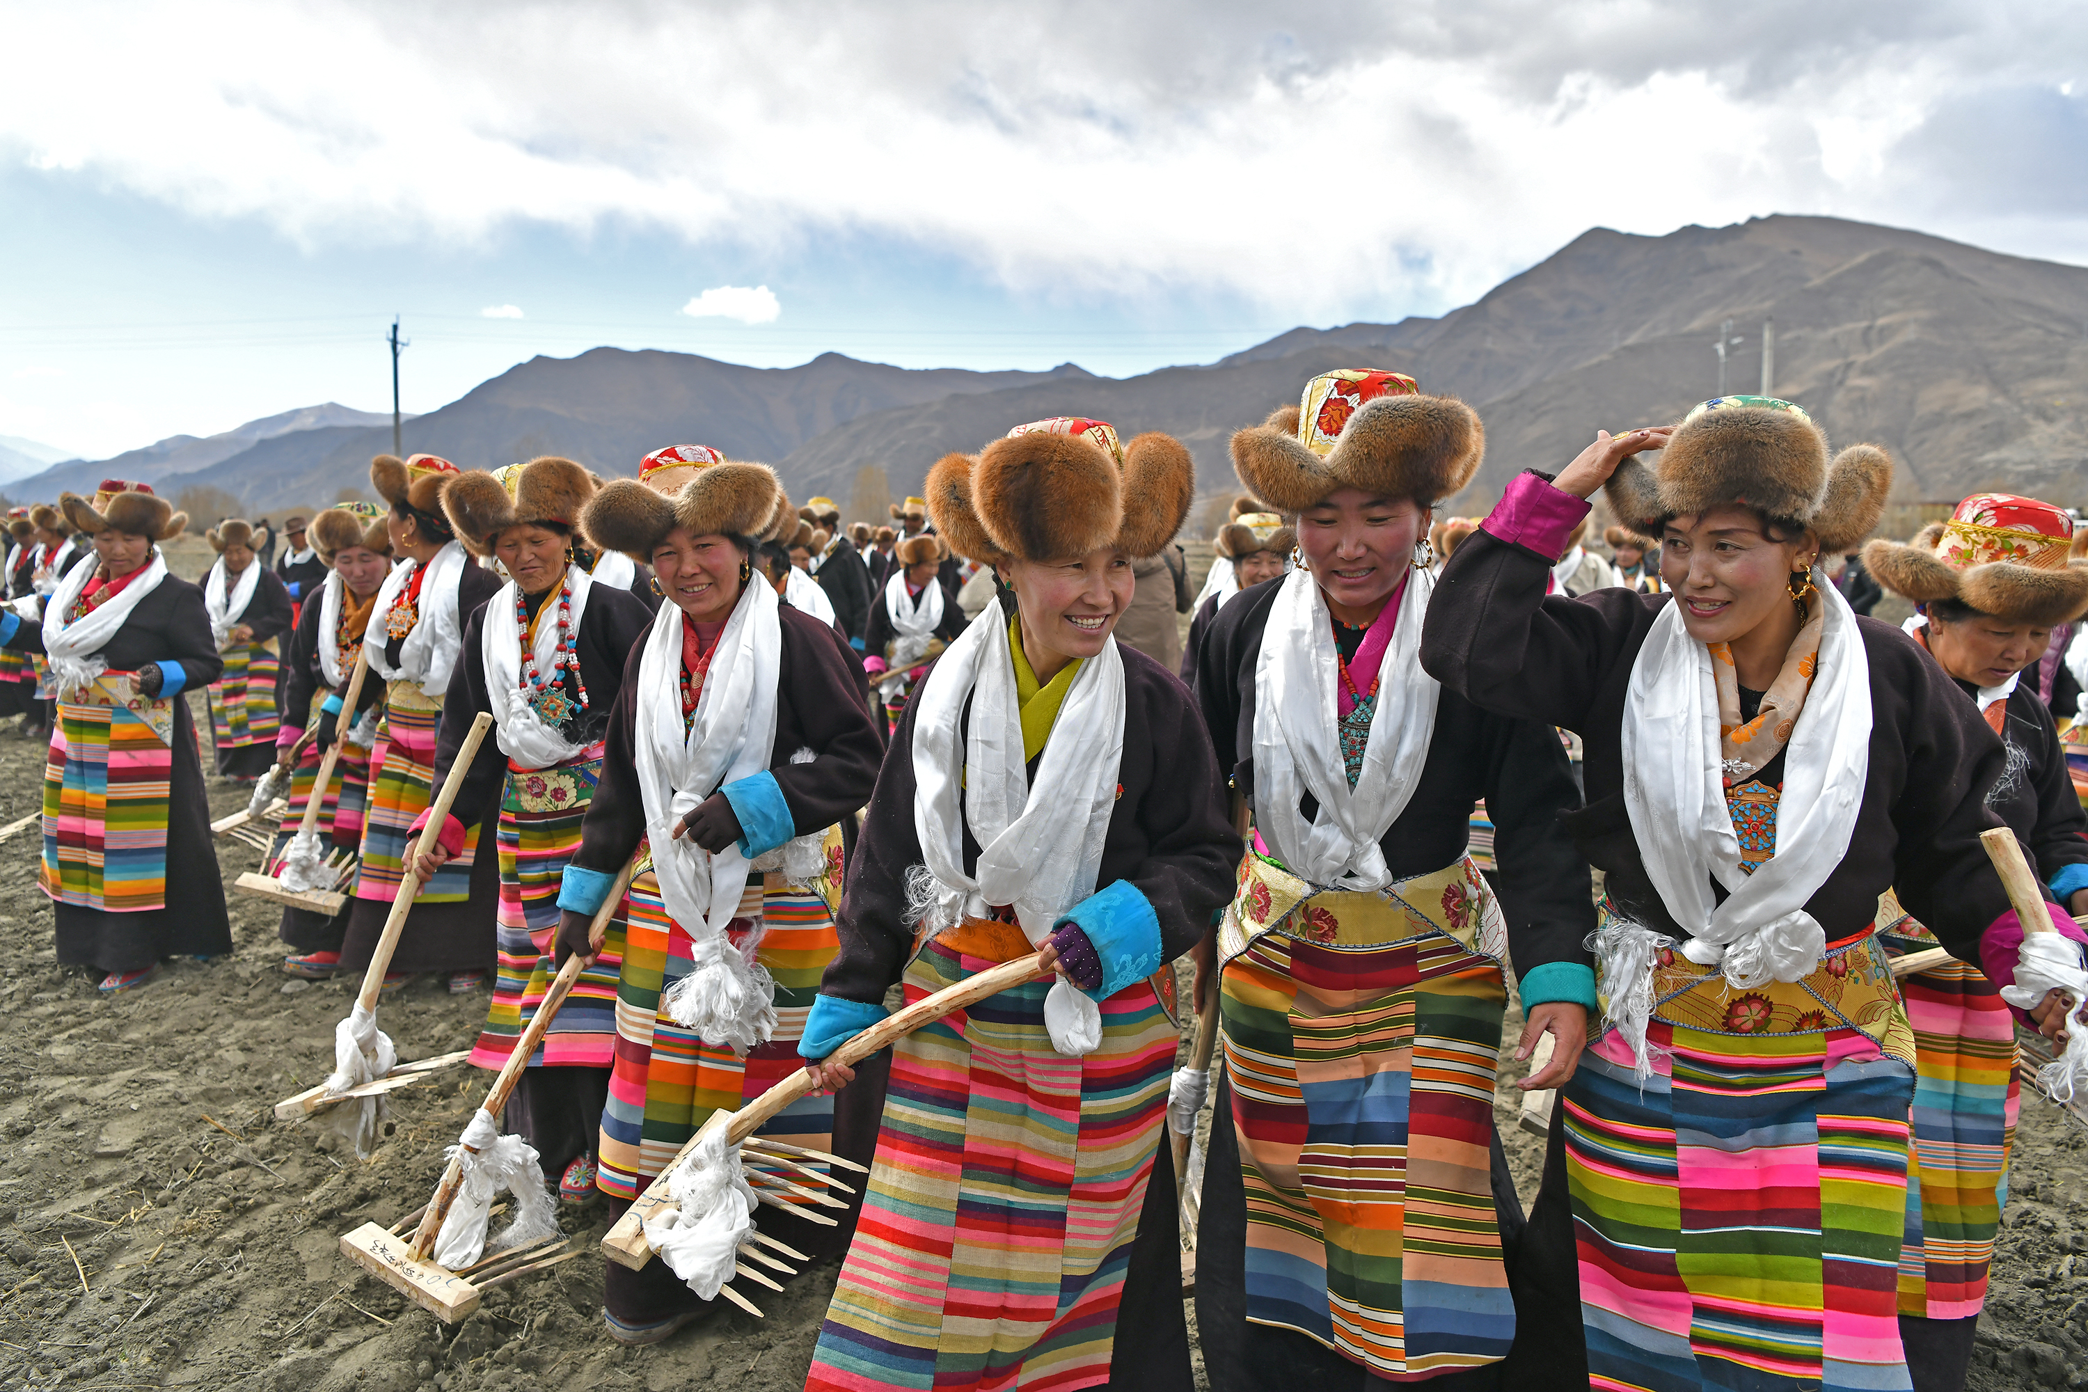
[[[1428,505],[1464,488],[1487,453],[1478,413],[1455,397],[1372,397],[1326,457],[1299,438],[1299,407],[1282,407],[1232,432],[1240,482],[1284,513],[1301,513],[1336,488]]]

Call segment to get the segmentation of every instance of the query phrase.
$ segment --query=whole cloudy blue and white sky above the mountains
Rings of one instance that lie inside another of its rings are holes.
[[[2088,261],[2088,6],[0,0],[0,434],[407,411],[610,342],[1113,376],[1591,225]]]

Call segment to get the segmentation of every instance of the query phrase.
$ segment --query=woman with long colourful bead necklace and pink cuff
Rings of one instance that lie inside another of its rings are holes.
[[[651,622],[631,591],[595,582],[572,553],[593,495],[593,476],[555,455],[499,476],[474,470],[443,490],[457,541],[499,559],[509,576],[464,624],[464,659],[443,699],[436,785],[480,712],[493,712],[495,733],[478,747],[441,843],[422,862],[422,879],[432,879],[470,826],[497,818],[499,975],[472,1050],[480,1069],[507,1062],[557,975],[560,877],[601,778],[601,737],[624,685],[624,659]],[[416,835],[426,820],[422,812]],[[545,1175],[572,1202],[595,1192],[620,962],[622,941],[612,937],[574,983],[507,1102],[503,1129],[537,1148]]]

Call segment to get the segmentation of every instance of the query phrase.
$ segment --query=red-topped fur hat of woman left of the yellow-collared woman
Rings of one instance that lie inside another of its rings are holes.
[[[672,459],[668,459],[672,455]],[[708,457],[706,457],[708,455]],[[773,536],[789,497],[766,463],[727,461],[704,445],[674,445],[645,455],[639,478],[606,482],[580,509],[580,532],[595,551],[649,561],[677,526],[691,536]]]

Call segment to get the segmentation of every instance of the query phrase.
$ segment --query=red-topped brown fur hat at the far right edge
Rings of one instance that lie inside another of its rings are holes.
[[[2088,609],[2088,561],[2069,559],[2073,518],[2050,503],[1975,493],[1913,543],[1873,541],[1862,566],[1915,603],[1956,599],[2011,624],[2063,624]]]

